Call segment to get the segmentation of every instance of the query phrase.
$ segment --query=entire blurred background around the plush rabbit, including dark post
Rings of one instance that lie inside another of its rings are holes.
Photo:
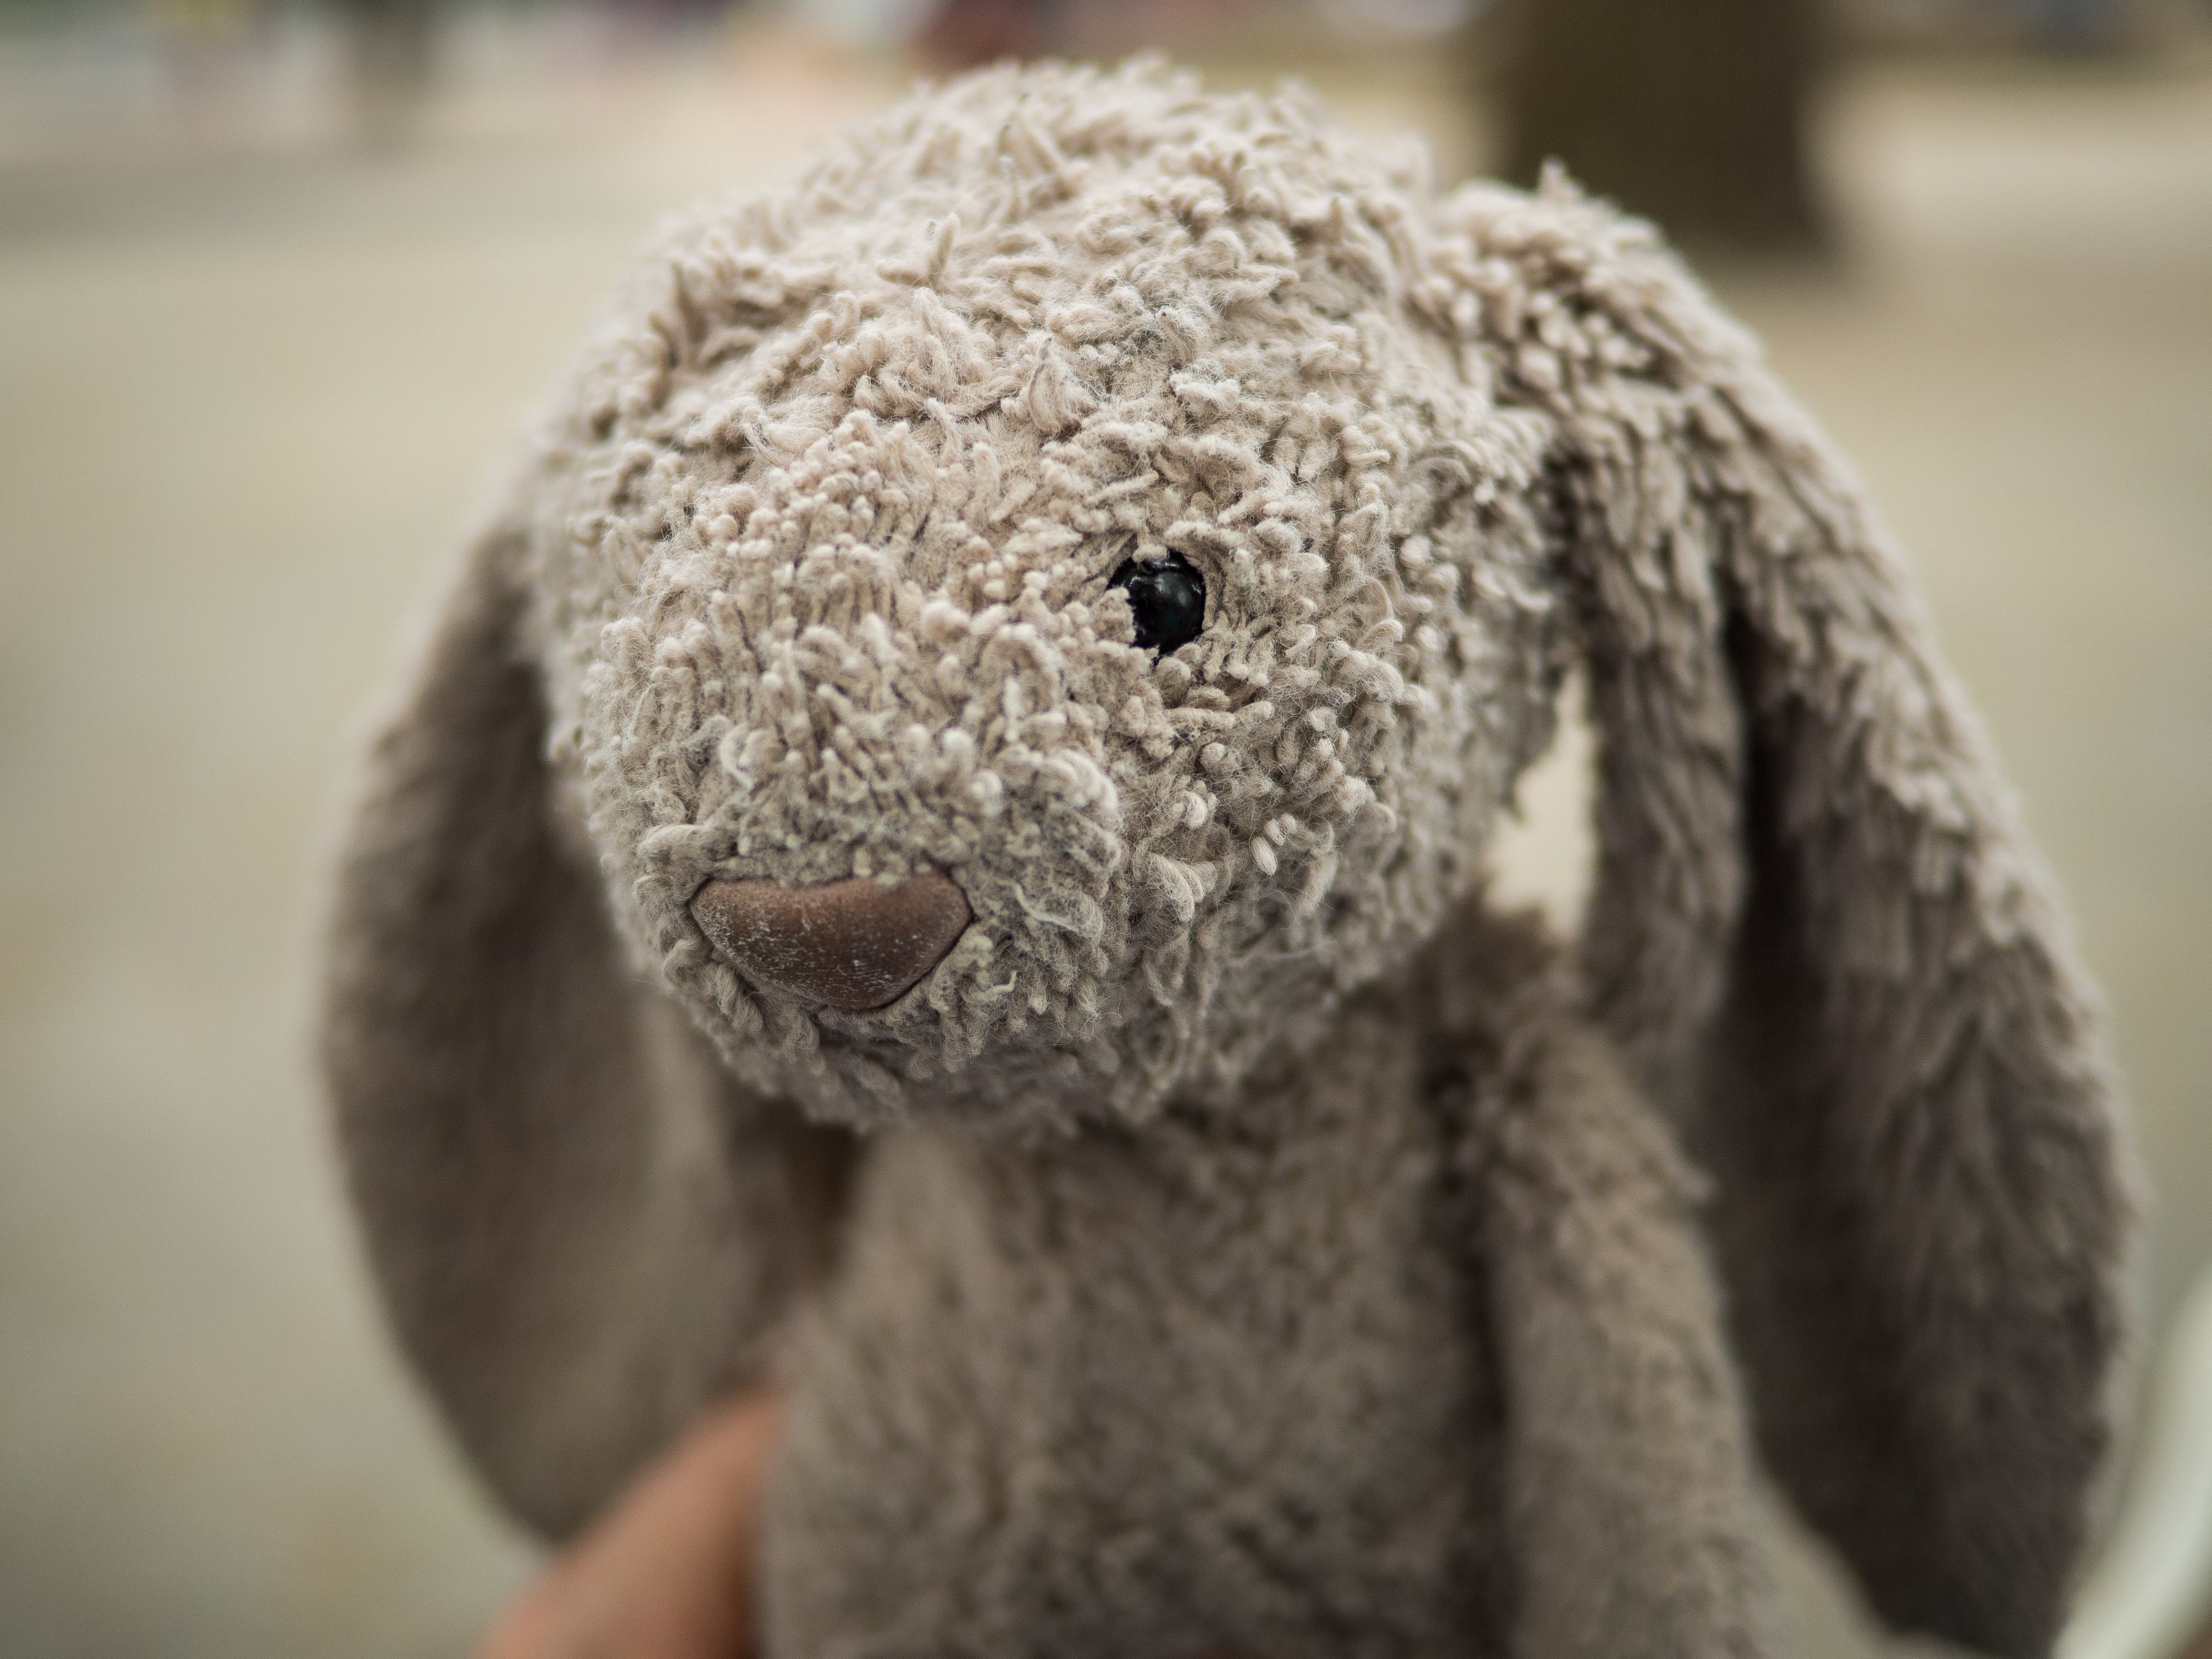
[[[0,1657],[451,1657],[529,1571],[383,1343],[312,1091],[361,710],[664,212],[916,71],[1137,46],[1442,177],[1564,155],[1767,336],[2073,896],[2159,1352],[2212,1259],[2203,0],[0,0]],[[1509,854],[1562,909],[1579,763]],[[2212,1398],[2150,1416],[2166,1610],[2079,1659],[2203,1606]],[[1885,1652],[1776,1535],[1792,1652]]]

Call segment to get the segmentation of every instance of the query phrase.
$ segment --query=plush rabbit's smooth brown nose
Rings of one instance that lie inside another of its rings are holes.
[[[847,1013],[902,995],[969,916],[967,894],[936,869],[898,887],[867,876],[821,887],[710,880],[692,896],[692,918],[748,980]]]

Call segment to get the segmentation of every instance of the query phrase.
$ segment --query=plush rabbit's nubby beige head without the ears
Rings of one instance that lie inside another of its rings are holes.
[[[1553,422],[1413,161],[1000,73],[664,246],[533,582],[617,902],[748,1077],[1141,1115],[1464,896],[1551,730]]]

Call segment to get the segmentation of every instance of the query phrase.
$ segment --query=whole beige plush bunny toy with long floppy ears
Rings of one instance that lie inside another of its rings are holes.
[[[1571,670],[1562,942],[1484,856]],[[562,1535],[776,1380],[772,1659],[1761,1655],[1759,1469],[2051,1650],[2093,1000],[1856,482],[1564,179],[1002,69],[679,223],[332,940],[456,1436]]]

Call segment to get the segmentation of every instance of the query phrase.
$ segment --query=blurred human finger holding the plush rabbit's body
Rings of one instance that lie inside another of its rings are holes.
[[[515,1595],[476,1659],[750,1659],[779,1425],[768,1389],[706,1416]]]

